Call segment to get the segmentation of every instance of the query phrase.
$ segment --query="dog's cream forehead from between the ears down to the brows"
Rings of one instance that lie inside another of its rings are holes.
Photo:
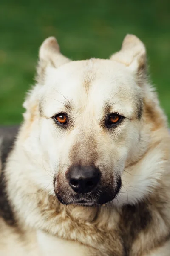
[[[135,85],[135,79],[124,65],[116,61],[90,59],[72,61],[58,69],[48,70],[45,93],[49,99],[54,99],[52,104],[56,104],[56,108],[59,105],[62,108],[66,99],[74,106],[83,102],[97,104],[98,109],[103,108],[105,102],[121,105],[122,101],[122,107],[127,102],[127,111],[131,111],[136,95]]]

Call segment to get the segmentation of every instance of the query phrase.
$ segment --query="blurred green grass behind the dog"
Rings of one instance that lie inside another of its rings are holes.
[[[56,36],[62,53],[77,60],[108,58],[127,33],[146,44],[151,78],[170,119],[169,0],[1,0],[0,124],[22,120],[45,38]]]

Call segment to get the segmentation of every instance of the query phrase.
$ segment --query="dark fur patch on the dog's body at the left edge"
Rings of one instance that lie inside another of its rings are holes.
[[[10,203],[8,201],[8,196],[6,193],[6,177],[5,177],[5,163],[10,153],[13,145],[14,139],[18,132],[19,126],[13,127],[2,127],[0,128],[0,137],[3,138],[1,144],[1,175],[0,175],[0,216],[10,225],[14,225],[16,223],[14,218],[14,213],[11,209]]]

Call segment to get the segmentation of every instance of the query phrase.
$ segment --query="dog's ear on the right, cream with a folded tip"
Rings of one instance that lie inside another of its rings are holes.
[[[124,64],[138,78],[146,77],[146,49],[135,35],[126,35],[122,49],[111,56],[111,60]]]

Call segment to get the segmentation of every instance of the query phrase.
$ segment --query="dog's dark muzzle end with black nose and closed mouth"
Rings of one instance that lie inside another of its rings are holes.
[[[96,166],[71,166],[63,181],[59,175],[54,180],[54,191],[62,204],[94,206],[113,200],[121,187],[121,178],[116,188],[109,180],[102,181],[102,175]]]

